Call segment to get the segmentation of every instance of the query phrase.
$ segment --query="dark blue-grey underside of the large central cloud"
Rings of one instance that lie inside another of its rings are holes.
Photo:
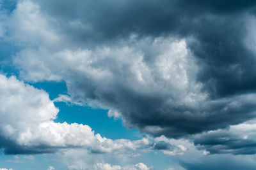
[[[166,104],[168,96],[163,94],[145,95],[133,92],[131,89],[115,87],[115,90],[106,90],[91,85],[90,88],[86,88],[90,89],[88,91],[84,91],[84,85],[70,87],[76,90],[70,92],[75,96],[88,97],[88,94],[91,94],[89,99],[100,99],[107,106],[118,109],[128,126],[139,127],[141,131],[155,136],[164,134],[179,138],[188,134],[225,128],[256,116],[255,95],[204,101],[198,108],[191,108],[185,104]]]

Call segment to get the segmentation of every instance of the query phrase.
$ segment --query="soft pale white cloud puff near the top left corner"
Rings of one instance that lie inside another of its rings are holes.
[[[49,22],[54,24],[54,19],[43,17],[40,6],[31,1],[18,1],[12,17],[8,18],[5,25],[12,34],[9,38],[18,40],[17,43],[31,45],[33,41],[33,45],[44,43],[50,47],[60,41],[60,38],[55,34],[53,27],[49,27]]]

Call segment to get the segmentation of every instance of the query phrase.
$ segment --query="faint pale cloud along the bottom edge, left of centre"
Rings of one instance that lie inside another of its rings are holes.
[[[141,163],[140,157],[127,157],[124,153],[107,153],[104,155],[91,155],[88,150],[72,148],[61,153],[61,160],[65,162],[68,169],[124,169],[124,170],[153,170],[153,166]],[[115,159],[113,159],[115,158]]]

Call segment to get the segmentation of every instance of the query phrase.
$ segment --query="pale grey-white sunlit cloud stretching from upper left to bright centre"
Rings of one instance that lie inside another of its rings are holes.
[[[120,112],[116,106],[104,99],[95,101],[93,96],[121,86],[135,94],[161,94],[169,105],[191,107],[207,96],[200,92],[202,85],[196,83],[198,66],[186,39],[139,40],[132,35],[116,44],[72,46],[74,42],[66,41],[65,35],[56,29],[54,18],[42,13],[32,1],[19,1],[9,22],[12,39],[28,44],[14,59],[24,80],[65,80],[72,97],[96,102],[116,113]],[[90,84],[86,84],[88,81]],[[92,94],[93,90],[97,94]]]

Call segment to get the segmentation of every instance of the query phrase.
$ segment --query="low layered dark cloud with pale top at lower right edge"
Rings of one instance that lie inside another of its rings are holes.
[[[255,154],[255,122],[232,125],[228,129],[204,132],[194,137],[195,145],[210,153]]]

